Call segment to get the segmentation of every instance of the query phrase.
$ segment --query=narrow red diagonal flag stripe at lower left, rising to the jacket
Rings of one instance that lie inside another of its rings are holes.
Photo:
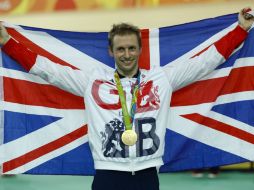
[[[43,145],[40,148],[32,150],[18,158],[10,160],[8,162],[3,163],[3,173],[14,170],[24,164],[27,164],[49,152],[52,152],[56,149],[59,149],[66,144],[69,144],[82,136],[87,134],[87,125],[80,127],[79,129],[59,138],[55,141],[52,141],[48,144]]]

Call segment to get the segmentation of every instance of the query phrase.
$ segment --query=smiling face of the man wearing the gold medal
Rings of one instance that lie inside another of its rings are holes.
[[[132,77],[138,70],[141,49],[135,34],[115,35],[110,55],[114,57],[120,74]]]

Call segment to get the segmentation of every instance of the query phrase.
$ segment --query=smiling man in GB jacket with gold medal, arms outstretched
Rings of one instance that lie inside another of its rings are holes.
[[[137,27],[114,25],[109,53],[115,71],[86,72],[62,66],[31,52],[1,26],[3,51],[30,73],[84,97],[89,145],[96,175],[92,189],[158,190],[156,167],[163,164],[164,138],[172,92],[213,71],[247,37],[253,18],[239,13],[239,25],[199,56],[180,66],[138,67],[141,37]]]

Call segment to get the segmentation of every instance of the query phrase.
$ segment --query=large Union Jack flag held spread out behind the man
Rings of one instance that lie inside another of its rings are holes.
[[[237,15],[142,30],[140,67],[184,64],[236,25]],[[107,33],[8,26],[29,49],[72,68],[114,69]],[[205,78],[173,94],[161,172],[254,160],[253,30]],[[0,163],[4,173],[92,175],[82,97],[28,74],[1,52]]]

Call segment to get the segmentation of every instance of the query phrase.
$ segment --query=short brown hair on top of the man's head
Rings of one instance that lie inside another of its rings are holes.
[[[141,48],[141,33],[137,26],[128,23],[114,24],[108,33],[108,43],[111,50],[113,50],[113,39],[116,35],[124,36],[128,34],[135,34],[138,39],[139,48]]]

